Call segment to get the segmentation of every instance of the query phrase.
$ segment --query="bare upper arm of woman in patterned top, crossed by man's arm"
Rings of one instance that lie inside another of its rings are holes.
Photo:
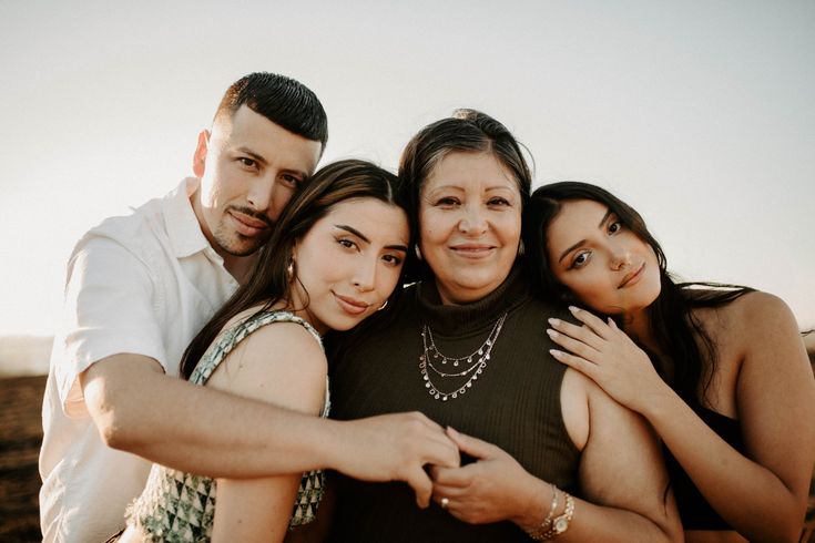
[[[238,344],[207,386],[318,414],[326,370],[323,349],[303,326],[276,322]],[[213,541],[282,541],[300,477],[218,479]]]

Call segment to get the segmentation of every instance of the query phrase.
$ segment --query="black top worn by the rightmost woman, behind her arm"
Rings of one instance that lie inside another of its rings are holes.
[[[704,408],[696,410],[696,414],[731,447],[741,453],[744,452],[741,424],[737,420]],[[704,499],[691,478],[687,477],[685,470],[673,458],[671,451],[668,448],[663,448],[663,451],[668,473],[671,477],[673,492],[676,496],[676,506],[682,518],[682,526],[685,530],[733,530],[711,508],[707,500]]]

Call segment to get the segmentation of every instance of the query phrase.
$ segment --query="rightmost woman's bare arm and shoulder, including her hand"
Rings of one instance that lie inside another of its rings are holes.
[[[577,316],[594,334],[587,327],[557,326],[566,335],[553,340],[582,357],[561,354],[558,360],[643,414],[735,530],[751,541],[797,541],[815,461],[815,383],[786,305],[765,293],[748,293],[695,311],[715,345],[719,370],[709,395],[734,406],[744,453],[654,379],[644,354],[613,322],[603,324],[587,311]]]

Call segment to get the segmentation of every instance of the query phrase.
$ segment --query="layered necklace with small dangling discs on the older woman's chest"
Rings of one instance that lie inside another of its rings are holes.
[[[506,318],[506,313],[499,317],[489,336],[487,336],[487,340],[478,349],[465,357],[456,358],[439,352],[438,347],[436,347],[436,341],[432,339],[430,327],[427,326],[427,322],[421,326],[421,344],[425,351],[419,357],[419,371],[421,372],[421,378],[425,380],[425,388],[434,399],[441,401],[447,401],[449,398],[456,399],[459,395],[463,395],[467,392],[467,389],[472,387],[473,381],[478,380],[478,376],[487,367],[492,346],[501,334]],[[434,382],[434,379],[437,379],[436,382],[439,382],[439,378],[444,382],[445,379],[462,377],[467,377],[465,383],[451,392],[442,392]]]

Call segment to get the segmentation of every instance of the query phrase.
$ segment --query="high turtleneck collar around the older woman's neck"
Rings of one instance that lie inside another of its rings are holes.
[[[521,305],[530,296],[520,264],[512,267],[498,288],[469,304],[444,305],[432,280],[420,283],[417,289],[421,320],[430,326],[434,334],[442,336],[481,334],[485,328],[492,327],[503,313]]]

